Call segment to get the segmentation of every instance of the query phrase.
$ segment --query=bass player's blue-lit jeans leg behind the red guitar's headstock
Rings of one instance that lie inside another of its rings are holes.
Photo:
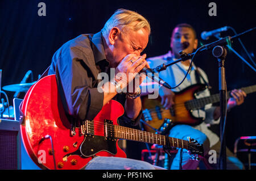
[[[207,136],[204,133],[200,132],[195,128],[192,128],[189,125],[184,125],[184,124],[176,125],[175,127],[173,127],[170,131],[169,136],[174,138],[179,138],[181,140],[187,140],[187,137],[191,137],[197,142],[199,142],[199,144],[203,144],[204,141],[207,140]],[[189,161],[190,155],[187,153],[187,151],[188,151],[187,149],[183,149],[182,163],[181,163],[182,166]],[[177,154],[175,155],[172,161],[171,170],[180,169],[180,152],[181,152],[181,149],[178,150]]]

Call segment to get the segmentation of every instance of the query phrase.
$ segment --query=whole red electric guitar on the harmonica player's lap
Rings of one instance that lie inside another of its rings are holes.
[[[42,169],[82,169],[96,155],[126,157],[117,144],[118,138],[185,148],[191,154],[204,152],[203,146],[190,138],[185,141],[118,125],[117,119],[124,110],[115,100],[110,100],[94,120],[73,127],[64,112],[55,75],[48,75],[30,87],[21,110],[24,146]]]

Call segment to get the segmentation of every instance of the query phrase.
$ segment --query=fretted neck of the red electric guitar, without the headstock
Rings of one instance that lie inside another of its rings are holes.
[[[141,131],[138,129],[132,129],[122,127],[120,125],[112,125],[114,129],[114,137],[125,140],[133,140],[139,142],[147,142],[149,144],[158,144],[163,146],[172,146],[176,148],[188,149],[189,141],[180,140],[178,138],[168,137],[161,134],[154,134],[150,132]]]

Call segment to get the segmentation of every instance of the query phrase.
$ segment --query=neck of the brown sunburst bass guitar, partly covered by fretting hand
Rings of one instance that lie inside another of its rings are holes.
[[[246,94],[250,94],[256,91],[256,85],[242,87],[241,90],[243,90]],[[230,91],[227,92],[227,98],[228,99],[230,98]],[[217,102],[220,102],[220,94],[213,94],[205,98],[188,100],[185,103],[185,106],[188,110],[196,110],[204,107],[206,104],[217,103]]]

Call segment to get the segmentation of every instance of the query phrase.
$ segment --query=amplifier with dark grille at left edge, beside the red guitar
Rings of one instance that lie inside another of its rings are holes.
[[[19,105],[22,99],[14,99],[15,120],[0,119],[0,170],[40,170],[24,147],[20,135]]]

